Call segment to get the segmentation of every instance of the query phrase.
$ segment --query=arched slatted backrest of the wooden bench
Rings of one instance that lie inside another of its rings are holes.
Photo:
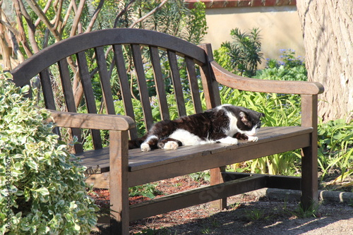
[[[47,109],[131,116],[138,127],[130,131],[135,139],[141,126],[220,104],[210,59],[210,44],[198,47],[149,30],[110,29],[57,42],[11,73],[18,86],[39,75],[40,92],[32,93]],[[102,148],[100,131],[90,132],[95,149]],[[81,139],[80,130],[71,135]],[[81,145],[75,149],[83,151]]]

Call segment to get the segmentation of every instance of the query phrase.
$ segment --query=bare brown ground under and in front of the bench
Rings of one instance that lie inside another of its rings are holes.
[[[201,184],[204,182],[181,176],[160,181],[157,189],[169,194]],[[140,200],[148,198],[131,198],[131,203]],[[298,201],[269,200],[256,193],[244,193],[230,197],[226,210],[215,210],[205,203],[131,222],[130,234],[348,235],[353,234],[352,203],[321,202],[315,212],[305,216]],[[107,234],[107,225],[100,224],[98,229],[92,234]]]

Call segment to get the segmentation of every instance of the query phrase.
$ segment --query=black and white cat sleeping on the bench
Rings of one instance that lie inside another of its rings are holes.
[[[238,139],[255,142],[263,116],[265,114],[251,109],[224,104],[174,121],[157,122],[142,138],[130,140],[129,148],[140,147],[147,152],[155,148],[176,150],[183,145],[205,143],[236,145]]]

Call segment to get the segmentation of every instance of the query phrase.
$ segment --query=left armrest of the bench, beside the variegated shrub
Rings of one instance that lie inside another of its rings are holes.
[[[130,116],[112,114],[79,114],[49,110],[52,120],[61,127],[88,128],[109,131],[127,131],[135,127]]]

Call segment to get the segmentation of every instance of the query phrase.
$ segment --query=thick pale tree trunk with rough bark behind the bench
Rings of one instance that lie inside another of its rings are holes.
[[[325,86],[318,115],[353,119],[353,1],[297,1],[308,79]]]

